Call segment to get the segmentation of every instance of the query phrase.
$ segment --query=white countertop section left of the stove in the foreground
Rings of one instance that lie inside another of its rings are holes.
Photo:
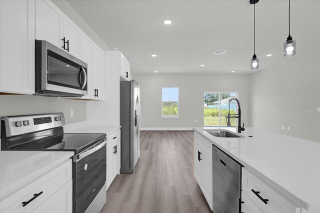
[[[0,200],[72,155],[72,151],[0,151]]]

